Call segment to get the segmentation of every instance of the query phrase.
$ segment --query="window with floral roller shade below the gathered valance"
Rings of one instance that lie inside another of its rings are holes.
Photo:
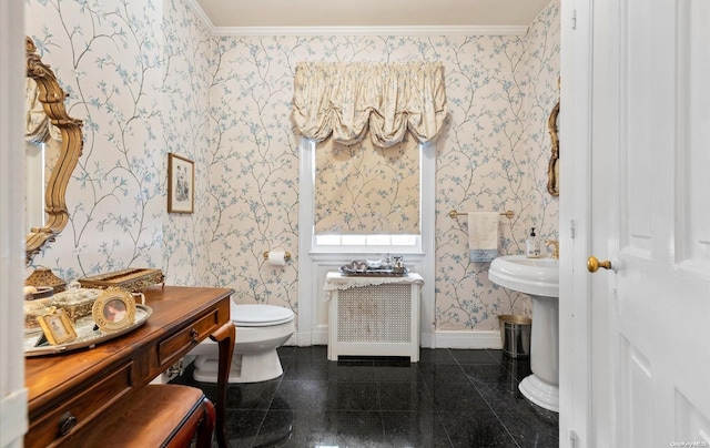
[[[434,228],[434,149],[414,139],[385,150],[368,139],[351,146],[302,139],[311,251],[422,252],[423,231]]]

